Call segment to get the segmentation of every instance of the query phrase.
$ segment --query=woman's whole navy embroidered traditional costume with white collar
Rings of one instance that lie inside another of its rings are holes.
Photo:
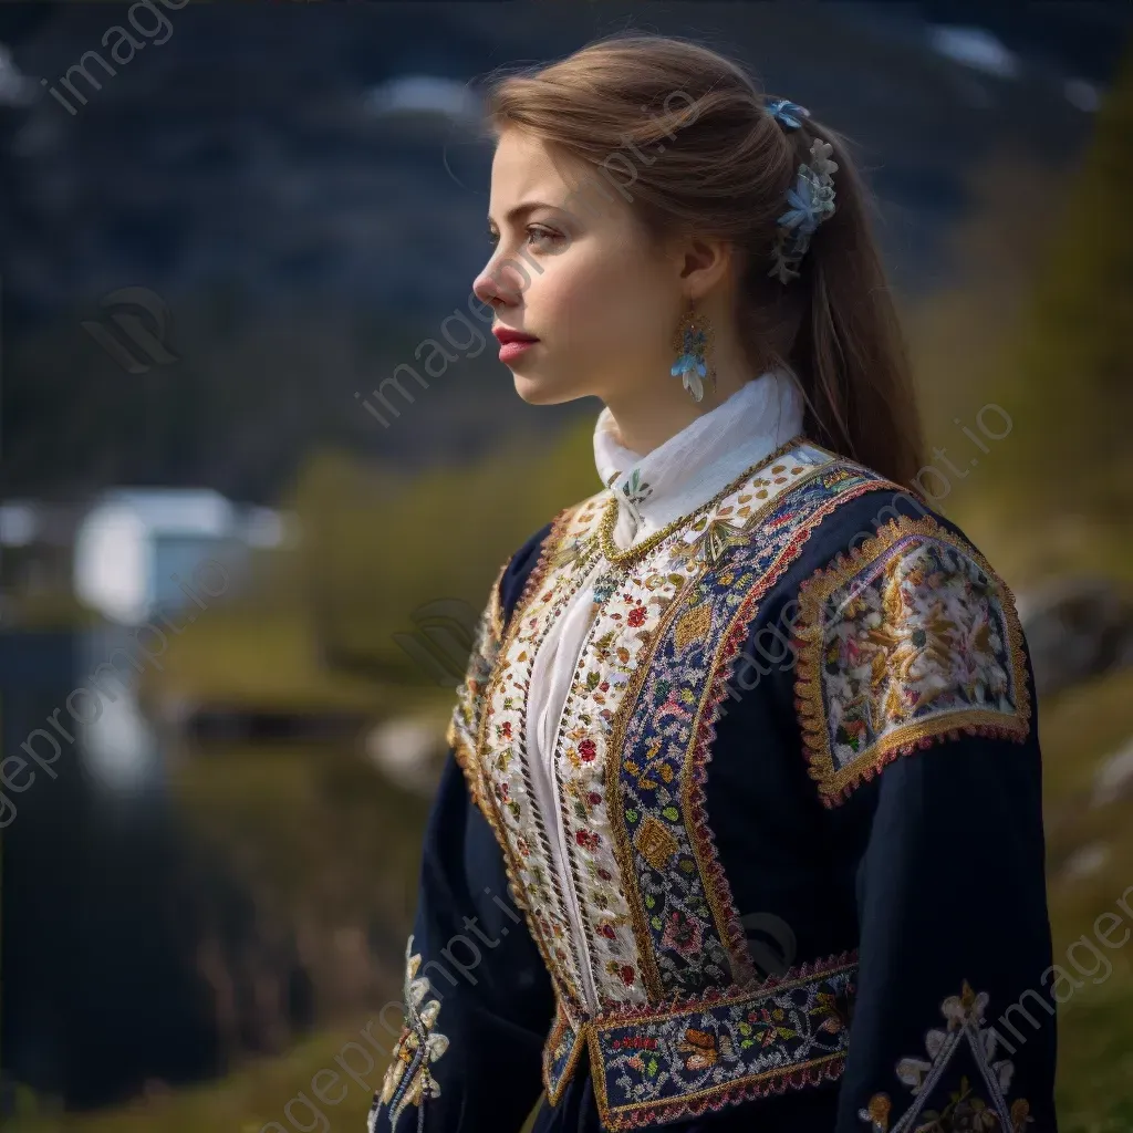
[[[772,370],[501,568],[370,1133],[1053,1133],[1030,664]]]

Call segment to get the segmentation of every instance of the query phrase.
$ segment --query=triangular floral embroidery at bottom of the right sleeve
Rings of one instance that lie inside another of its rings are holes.
[[[1023,1133],[1034,1122],[1025,1098],[1016,1098],[1010,1107],[1007,1105],[1006,1092],[1015,1067],[1010,1058],[991,1060],[999,1036],[995,1028],[983,1025],[987,1005],[987,993],[977,995],[966,980],[959,996],[949,996],[940,1004],[947,1026],[926,1036],[928,1059],[902,1058],[897,1063],[897,1077],[910,1088],[914,1101],[891,1126],[893,1102],[887,1093],[875,1093],[858,1111],[859,1119],[869,1124],[870,1133],[911,1133],[913,1130],[915,1133],[976,1133],[980,1130]],[[976,1059],[982,1083],[973,1085],[962,1076],[944,1108],[925,1109],[948,1063],[964,1045]],[[980,1094],[986,1094],[988,1100]]]

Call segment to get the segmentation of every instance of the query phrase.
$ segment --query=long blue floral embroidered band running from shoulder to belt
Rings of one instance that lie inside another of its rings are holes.
[[[682,590],[616,719],[622,820],[612,833],[641,938],[642,979],[656,996],[697,995],[755,978],[702,810],[713,709],[726,696],[730,665],[763,595],[832,511],[885,483],[861,469],[830,476],[829,460],[791,457],[776,466],[773,479],[782,483],[772,485],[768,510],[749,518],[752,528],[736,552]],[[748,486],[739,494],[750,494]],[[679,554],[670,564],[676,561]],[[685,946],[689,939],[695,948]]]

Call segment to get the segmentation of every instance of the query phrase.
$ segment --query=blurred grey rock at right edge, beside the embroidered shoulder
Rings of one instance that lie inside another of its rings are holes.
[[[1109,579],[1058,579],[1017,604],[1040,696],[1133,661],[1133,598]]]

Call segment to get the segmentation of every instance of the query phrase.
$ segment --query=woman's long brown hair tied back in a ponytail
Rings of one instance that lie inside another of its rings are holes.
[[[785,365],[802,386],[808,436],[909,484],[920,421],[866,188],[842,135],[815,118],[786,131],[765,101],[742,66],[709,48],[619,33],[495,78],[487,120],[496,135],[514,127],[596,167],[654,239],[682,229],[732,241],[736,322],[757,372]],[[834,147],[836,210],[784,284],[767,274],[776,220],[815,138]]]

